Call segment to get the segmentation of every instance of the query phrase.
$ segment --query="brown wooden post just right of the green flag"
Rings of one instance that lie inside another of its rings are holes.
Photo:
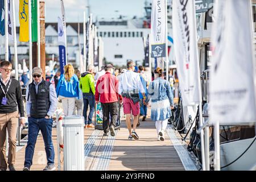
[[[43,70],[43,78],[46,78],[46,20],[44,0],[40,0],[40,65]]]

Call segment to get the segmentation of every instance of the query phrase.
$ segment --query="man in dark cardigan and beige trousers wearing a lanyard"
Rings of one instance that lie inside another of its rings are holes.
[[[12,65],[9,61],[0,63],[1,87],[0,87],[0,171],[6,171],[7,163],[10,171],[15,171],[16,133],[18,118],[24,125],[24,106],[22,91],[18,80],[11,78]],[[19,111],[17,111],[17,105]],[[8,131],[8,162],[6,162],[6,132]]]

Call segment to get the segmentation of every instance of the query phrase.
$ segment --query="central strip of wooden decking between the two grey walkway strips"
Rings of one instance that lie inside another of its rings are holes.
[[[170,138],[158,141],[155,122],[147,119],[136,130],[139,140],[128,140],[125,121],[115,138],[109,170],[184,170]]]

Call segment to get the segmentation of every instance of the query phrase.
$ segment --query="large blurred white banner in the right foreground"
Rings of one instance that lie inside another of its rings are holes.
[[[210,122],[255,122],[255,74],[250,0],[218,1],[210,71]]]

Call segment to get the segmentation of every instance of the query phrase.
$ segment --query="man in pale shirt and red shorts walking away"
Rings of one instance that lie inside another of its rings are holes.
[[[123,113],[126,114],[126,124],[129,130],[128,139],[139,139],[135,132],[139,119],[139,91],[143,94],[143,102],[146,99],[141,78],[134,72],[133,61],[127,62],[127,71],[119,78],[118,93],[123,96]],[[134,115],[133,131],[131,131],[131,114]]]

